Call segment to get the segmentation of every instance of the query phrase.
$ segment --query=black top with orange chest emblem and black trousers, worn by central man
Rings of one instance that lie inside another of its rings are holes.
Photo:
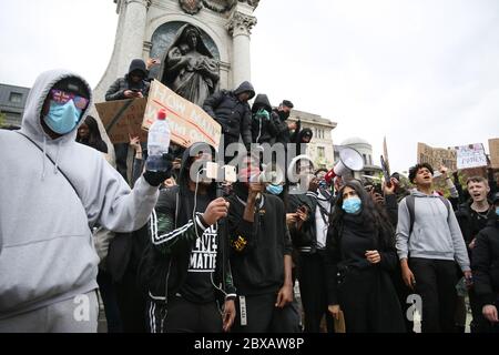
[[[263,194],[254,223],[244,221],[247,192],[244,196],[238,192],[241,189],[244,187],[236,183],[235,192],[227,199],[231,203],[231,265],[238,294],[234,331],[296,332],[298,324],[293,324],[296,320],[292,314],[294,308],[287,305],[278,310],[274,306],[284,283],[284,256],[292,253],[284,204],[276,196]],[[244,316],[241,317],[243,302],[246,303],[246,322]]]

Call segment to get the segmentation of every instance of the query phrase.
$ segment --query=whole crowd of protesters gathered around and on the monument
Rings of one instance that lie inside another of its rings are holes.
[[[133,60],[105,100],[147,97],[155,63]],[[410,333],[416,305],[421,332],[454,333],[466,296],[471,332],[499,332],[491,170],[461,186],[442,168],[446,199],[429,164],[410,168],[406,190],[397,173],[376,190],[308,165],[297,170],[306,191],[291,193],[287,178],[254,179],[267,166],[252,144],[306,154],[312,131],[288,121],[289,100],[273,108],[243,82],[203,104],[221,149],[248,150],[228,189],[202,174],[215,148],[172,144],[167,171],[147,171],[146,142],[108,146],[91,104],[83,78],[45,72],[21,129],[0,131],[0,332],[96,332],[98,290],[109,332],[334,333],[343,322],[348,333]]]

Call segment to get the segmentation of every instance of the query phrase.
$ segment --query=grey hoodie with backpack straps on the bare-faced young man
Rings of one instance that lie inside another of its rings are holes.
[[[455,260],[462,271],[469,271],[468,252],[452,209],[447,210],[436,195],[426,195],[417,190],[411,194],[415,196],[415,221],[410,237],[406,199],[398,205],[396,239],[399,258],[407,258],[410,254],[410,257]]]

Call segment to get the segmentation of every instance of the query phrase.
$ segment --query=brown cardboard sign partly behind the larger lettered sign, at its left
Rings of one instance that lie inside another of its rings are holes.
[[[130,136],[139,136],[141,142],[147,141],[147,132],[142,130],[145,104],[146,99],[95,103],[95,109],[112,143],[129,143]]]

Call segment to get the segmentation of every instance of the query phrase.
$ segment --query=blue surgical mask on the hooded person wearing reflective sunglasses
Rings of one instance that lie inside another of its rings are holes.
[[[51,101],[49,113],[43,120],[53,132],[67,134],[77,128],[80,116],[81,110],[77,109],[73,100],[65,104]]]

